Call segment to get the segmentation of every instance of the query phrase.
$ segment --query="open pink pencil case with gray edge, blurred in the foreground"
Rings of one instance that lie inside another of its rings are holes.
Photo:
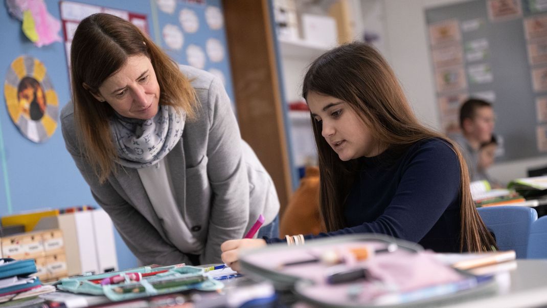
[[[313,306],[423,307],[497,290],[492,276],[453,269],[416,243],[377,234],[270,245],[242,252],[240,263],[245,275]]]

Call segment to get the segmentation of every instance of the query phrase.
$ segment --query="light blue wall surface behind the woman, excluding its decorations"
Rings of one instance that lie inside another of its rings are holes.
[[[45,1],[49,13],[58,20],[60,20],[59,2],[58,0]],[[206,33],[207,28],[203,26],[206,23],[201,20],[205,9],[203,5],[177,1],[177,9],[173,15],[162,13],[156,8],[158,16],[160,16],[159,22],[156,24],[160,25],[160,30],[155,31],[153,28],[153,8],[151,7],[151,5],[155,5],[155,2],[148,0],[79,0],[78,2],[147,15],[149,33],[155,42],[158,42],[158,39],[161,40],[161,37],[155,37],[155,33],[161,33],[161,25],[166,21],[171,20],[172,24],[178,24],[180,27],[178,11],[181,8],[188,7],[196,10],[197,15],[200,17],[200,32],[191,35],[185,33],[185,43],[180,53],[170,51],[170,55],[182,63],[185,63],[183,50],[185,50],[187,42],[201,45],[203,50],[205,50],[205,40],[208,37],[216,37],[224,44],[226,42],[224,28],[212,33]],[[220,0],[206,2],[207,5],[220,6]],[[70,93],[67,60],[63,43],[57,42],[42,48],[36,47],[22,33],[21,21],[10,16],[5,5],[0,7],[0,29],[2,33],[0,72],[3,78],[5,78],[11,62],[16,57],[21,55],[36,57],[46,67],[46,72],[57,93],[59,107],[65,106],[69,101]],[[63,36],[62,30],[59,35]],[[164,44],[160,45],[164,47]],[[215,67],[223,71],[227,91],[230,97],[233,97],[228,59],[228,48],[225,46],[224,61],[208,63],[205,69]],[[3,86],[0,92],[3,102],[3,106],[0,106],[0,160],[5,157],[5,160],[0,162],[5,162],[7,165],[7,168],[4,168],[3,164],[0,163],[0,216],[41,208],[64,208],[84,204],[96,205],[88,185],[80,176],[71,156],[65,149],[60,126],[57,126],[53,136],[45,143],[37,144],[28,140],[21,135],[9,117],[5,107]],[[59,123],[59,119],[56,120]],[[9,190],[6,189],[6,183],[9,185]],[[115,239],[120,269],[135,267],[137,260],[125,246],[119,234],[115,234]]]

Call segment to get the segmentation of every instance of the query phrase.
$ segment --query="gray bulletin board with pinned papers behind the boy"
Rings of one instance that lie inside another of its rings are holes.
[[[475,0],[425,11],[440,120],[459,130],[468,97],[492,102],[498,161],[547,154],[547,1]]]

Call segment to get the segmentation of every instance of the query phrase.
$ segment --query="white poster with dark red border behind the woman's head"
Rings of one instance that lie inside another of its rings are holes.
[[[65,33],[65,51],[67,55],[67,65],[70,69],[70,48],[74,32],[82,19],[95,13],[108,13],[125,20],[129,20],[133,25],[137,26],[141,31],[148,33],[148,21],[146,15],[131,13],[126,10],[110,9],[100,7],[98,5],[84,4],[72,1],[61,1],[61,22],[63,32]]]

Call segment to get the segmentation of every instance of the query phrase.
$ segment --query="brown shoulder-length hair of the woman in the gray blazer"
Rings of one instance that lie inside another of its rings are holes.
[[[116,73],[131,56],[144,55],[152,62],[160,86],[160,105],[174,106],[195,117],[196,96],[177,63],[131,22],[97,13],[80,22],[71,47],[71,84],[74,120],[83,155],[103,183],[115,170],[117,152],[111,138],[109,119],[114,110],[90,93]],[[83,84],[89,86],[86,90]]]

